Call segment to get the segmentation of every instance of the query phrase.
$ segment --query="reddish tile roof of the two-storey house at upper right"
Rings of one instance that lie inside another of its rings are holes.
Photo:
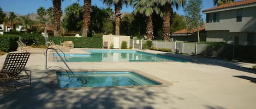
[[[247,4],[254,4],[254,3],[256,3],[256,0],[243,0],[243,1],[231,2],[231,3],[218,5],[217,7],[203,10],[203,12],[217,10],[217,9],[232,8],[232,7],[237,7],[241,5],[247,5]]]

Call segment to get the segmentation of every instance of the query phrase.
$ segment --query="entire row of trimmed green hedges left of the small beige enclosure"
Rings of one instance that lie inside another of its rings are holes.
[[[13,52],[17,49],[17,40],[21,40],[27,46],[44,46],[44,37],[41,34],[15,33],[0,35],[0,50]],[[56,44],[64,41],[73,41],[76,48],[102,48],[102,37],[49,37]]]

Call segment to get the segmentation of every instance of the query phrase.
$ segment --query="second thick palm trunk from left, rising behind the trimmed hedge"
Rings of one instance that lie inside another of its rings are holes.
[[[92,1],[91,0],[84,0],[84,20],[83,20],[83,27],[82,27],[82,36],[87,37],[88,29],[91,23],[91,12],[92,12]]]

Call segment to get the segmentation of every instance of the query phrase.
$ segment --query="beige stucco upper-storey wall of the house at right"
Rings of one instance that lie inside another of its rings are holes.
[[[219,22],[206,23],[206,31],[229,30],[230,33],[256,32],[256,7],[243,8],[242,22],[236,22],[236,10],[221,11]]]

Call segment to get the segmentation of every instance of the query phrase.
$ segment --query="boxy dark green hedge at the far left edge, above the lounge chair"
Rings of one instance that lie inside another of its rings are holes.
[[[3,52],[13,52],[17,49],[19,35],[0,35],[0,50]]]

